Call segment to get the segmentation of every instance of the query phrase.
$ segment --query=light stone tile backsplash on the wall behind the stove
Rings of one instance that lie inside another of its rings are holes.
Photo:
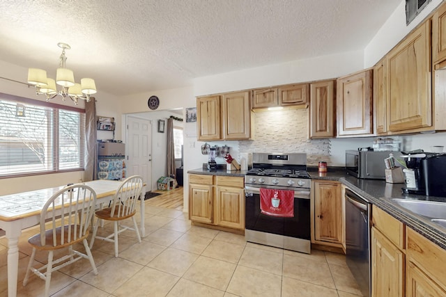
[[[254,113],[255,140],[239,141],[240,152],[305,152],[307,165],[330,161],[330,139],[308,139],[308,109]]]

